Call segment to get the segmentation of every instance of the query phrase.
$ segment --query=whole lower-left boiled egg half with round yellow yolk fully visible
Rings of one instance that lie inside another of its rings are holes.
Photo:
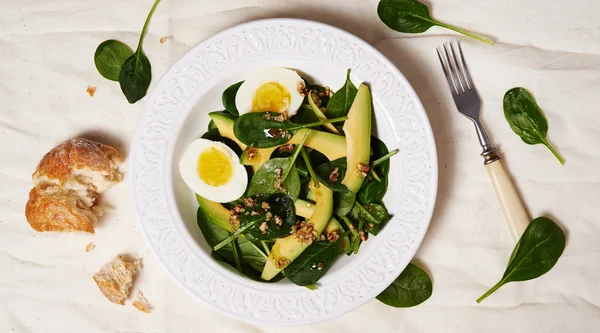
[[[206,139],[190,143],[179,161],[179,172],[192,191],[216,202],[239,199],[248,185],[248,173],[235,152]]]

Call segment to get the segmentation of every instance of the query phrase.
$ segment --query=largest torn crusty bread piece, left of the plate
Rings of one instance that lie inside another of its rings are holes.
[[[32,178],[25,217],[37,231],[94,233],[106,209],[95,205],[98,194],[121,180],[123,158],[112,147],[70,139],[50,150]]]

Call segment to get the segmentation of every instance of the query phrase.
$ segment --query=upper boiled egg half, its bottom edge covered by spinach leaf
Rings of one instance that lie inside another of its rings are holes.
[[[290,118],[302,105],[306,87],[293,70],[272,68],[250,76],[235,96],[240,115],[248,112],[272,111]]]

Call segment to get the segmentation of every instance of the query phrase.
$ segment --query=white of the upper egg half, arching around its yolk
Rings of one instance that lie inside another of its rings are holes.
[[[287,118],[298,112],[302,101],[304,101],[304,94],[298,91],[298,87],[304,87],[304,80],[293,70],[272,68],[253,74],[242,83],[235,96],[235,106],[240,115],[252,112],[252,99],[255,91],[269,82],[277,82],[289,91],[290,105],[287,110]]]

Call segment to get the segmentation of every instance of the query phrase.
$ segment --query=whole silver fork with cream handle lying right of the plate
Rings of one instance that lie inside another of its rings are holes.
[[[483,148],[481,156],[483,156],[484,165],[494,184],[496,195],[500,201],[500,206],[502,207],[502,212],[504,213],[511,234],[515,240],[518,240],[529,224],[529,216],[521,203],[521,199],[519,199],[519,195],[508,173],[500,161],[500,156],[498,156],[496,149],[490,144],[490,139],[479,120],[481,99],[477,94],[477,89],[473,85],[473,79],[467,68],[460,43],[457,42],[460,56],[457,56],[454,51],[452,42],[448,44],[449,47],[446,47],[446,44],[444,44],[437,48],[436,51],[446,80],[448,80],[450,93],[458,111],[469,118],[475,125],[479,144]]]

